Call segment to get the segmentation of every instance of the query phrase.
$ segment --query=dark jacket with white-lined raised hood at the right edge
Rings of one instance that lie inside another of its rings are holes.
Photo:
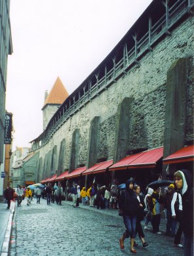
[[[180,190],[182,194],[183,207],[183,230],[184,234],[193,237],[193,187],[191,184],[191,173],[188,170],[182,169],[178,171],[183,179],[183,187]]]

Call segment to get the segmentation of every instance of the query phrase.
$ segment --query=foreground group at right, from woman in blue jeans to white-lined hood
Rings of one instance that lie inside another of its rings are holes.
[[[157,186],[153,189],[147,188],[147,194],[143,199],[140,196],[140,186],[134,183],[134,179],[126,181],[126,189],[119,194],[119,209],[126,228],[119,240],[121,249],[124,249],[125,239],[130,237],[130,251],[136,253],[136,234],[139,235],[143,247],[148,245],[145,242],[141,225],[144,216],[144,229],[150,229],[148,223],[151,222],[153,233],[162,234],[159,226],[161,212],[164,212],[166,235],[174,237],[174,246],[184,248],[184,256],[193,255],[193,187],[191,182],[189,171],[176,171],[174,182],[169,184],[163,193]],[[184,245],[180,243],[182,232],[184,233]]]

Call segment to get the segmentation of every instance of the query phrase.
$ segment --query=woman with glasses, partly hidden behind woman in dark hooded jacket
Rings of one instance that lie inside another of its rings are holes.
[[[136,193],[138,201],[140,202],[140,208],[138,209],[137,220],[136,220],[136,232],[138,232],[138,235],[140,240],[142,241],[143,247],[146,247],[148,244],[145,242],[145,235],[144,235],[142,224],[141,224],[141,221],[144,220],[145,203],[144,203],[144,197],[140,195],[141,189],[138,184],[134,185],[134,192]]]

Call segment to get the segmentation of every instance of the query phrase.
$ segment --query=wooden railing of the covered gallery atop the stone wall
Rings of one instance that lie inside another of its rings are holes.
[[[73,104],[69,106],[69,98],[62,104],[48,123],[47,129],[37,139],[33,140],[31,151],[37,150],[47,144],[48,140],[50,140],[54,133],[70,116],[75,114],[80,108],[83,108],[83,106],[85,106],[85,104],[92,98],[98,96],[102,91],[107,89],[107,87],[115,82],[120,75],[124,75],[130,66],[137,64],[142,54],[145,54],[145,51],[151,50],[151,46],[157,43],[163,35],[170,34],[170,28],[172,28],[172,26],[174,26],[185,14],[191,12],[193,6],[194,0],[178,0],[170,8],[168,5],[165,6],[165,14],[161,16],[153,26],[151,24],[151,18],[149,18],[148,31],[140,39],[137,39],[136,35],[132,36],[134,38],[134,45],[132,45],[129,50],[127,50],[126,45],[124,45],[123,58],[117,63],[113,60],[113,68],[107,72],[106,66],[104,66],[105,75],[93,85],[88,79],[88,90],[84,90],[84,94],[79,96],[77,101],[75,101],[75,95],[72,94],[70,95],[70,100],[71,102],[73,101]],[[57,117],[58,121],[53,121],[55,117]]]

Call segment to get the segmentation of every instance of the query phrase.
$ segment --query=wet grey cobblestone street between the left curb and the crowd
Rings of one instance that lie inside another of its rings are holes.
[[[14,215],[10,256],[67,255],[67,256],[125,256],[132,255],[129,240],[125,250],[119,248],[119,238],[125,230],[123,219],[116,210],[98,210],[88,206],[73,208],[71,202],[62,205],[26,201],[16,208]],[[183,249],[174,247],[173,238],[145,230],[146,248],[137,237],[137,255],[183,255]]]

